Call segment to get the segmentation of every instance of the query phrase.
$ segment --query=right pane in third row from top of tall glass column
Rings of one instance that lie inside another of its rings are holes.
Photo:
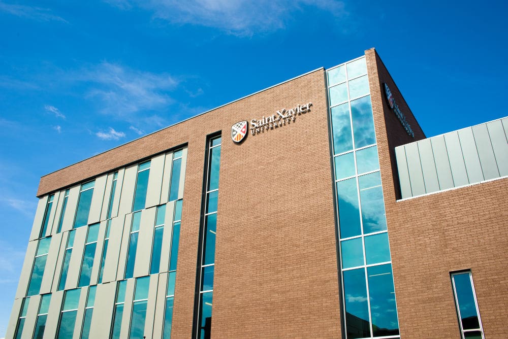
[[[360,148],[375,144],[376,137],[370,95],[351,101],[351,116],[353,117],[355,147]]]

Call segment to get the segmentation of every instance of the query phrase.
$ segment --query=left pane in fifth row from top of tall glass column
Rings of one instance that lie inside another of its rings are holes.
[[[360,235],[360,209],[356,178],[337,182],[340,238]]]

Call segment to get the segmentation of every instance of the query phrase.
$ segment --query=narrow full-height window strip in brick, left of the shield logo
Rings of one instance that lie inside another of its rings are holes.
[[[204,218],[201,225],[202,240],[200,249],[200,265],[197,276],[199,277],[197,289],[197,323],[196,338],[208,338],[210,336],[212,321],[212,298],[213,298],[213,269],[215,265],[215,235],[217,222],[217,197],[220,165],[221,137],[211,138],[208,141],[208,161],[205,176],[205,202]]]

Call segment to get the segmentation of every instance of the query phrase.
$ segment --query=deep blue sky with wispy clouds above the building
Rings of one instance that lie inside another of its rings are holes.
[[[39,178],[375,47],[427,136],[506,116],[507,5],[0,0],[0,337]]]

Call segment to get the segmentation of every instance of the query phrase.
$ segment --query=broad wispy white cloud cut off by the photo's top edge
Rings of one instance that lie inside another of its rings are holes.
[[[296,12],[305,9],[326,11],[336,18],[345,17],[344,3],[334,0],[106,0],[109,4],[128,10],[134,6],[152,11],[155,18],[176,24],[195,24],[218,28],[232,35],[251,36],[255,32],[282,29]]]

